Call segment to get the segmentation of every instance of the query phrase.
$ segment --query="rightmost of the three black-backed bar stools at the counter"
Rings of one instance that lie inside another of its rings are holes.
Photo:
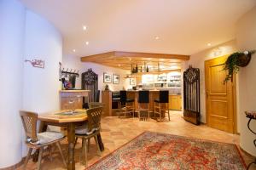
[[[154,117],[155,114],[160,115],[160,121],[162,121],[162,113],[166,116],[166,111],[168,112],[168,118],[170,121],[170,113],[169,113],[169,91],[160,91],[159,99],[154,99]]]

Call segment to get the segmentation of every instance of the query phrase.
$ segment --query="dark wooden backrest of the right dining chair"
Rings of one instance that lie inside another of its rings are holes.
[[[88,130],[99,129],[101,125],[103,107],[96,107],[86,111],[88,117]]]

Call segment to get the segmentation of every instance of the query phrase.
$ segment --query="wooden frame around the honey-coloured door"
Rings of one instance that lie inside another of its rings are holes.
[[[205,92],[207,92],[207,62],[212,61],[214,59],[220,59],[220,58],[228,58],[230,56],[230,54],[225,54],[222,56],[218,56],[215,57],[213,59],[207,59],[205,60]],[[237,104],[236,104],[236,74],[233,75],[233,80],[231,82],[231,86],[232,86],[232,106],[233,106],[233,133],[238,133],[237,132]],[[205,106],[206,106],[206,124],[208,126],[208,119],[209,119],[209,115],[207,113],[208,111],[208,106],[207,106],[207,93],[205,93]]]

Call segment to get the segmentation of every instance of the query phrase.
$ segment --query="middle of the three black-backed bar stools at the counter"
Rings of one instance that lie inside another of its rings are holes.
[[[149,91],[138,92],[138,116],[139,120],[149,121]]]

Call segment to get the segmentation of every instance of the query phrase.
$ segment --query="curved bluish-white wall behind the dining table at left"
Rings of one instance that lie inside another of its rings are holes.
[[[26,11],[24,59],[43,59],[44,69],[24,63],[23,109],[55,111],[60,107],[59,62],[62,60],[62,38],[49,21]]]

